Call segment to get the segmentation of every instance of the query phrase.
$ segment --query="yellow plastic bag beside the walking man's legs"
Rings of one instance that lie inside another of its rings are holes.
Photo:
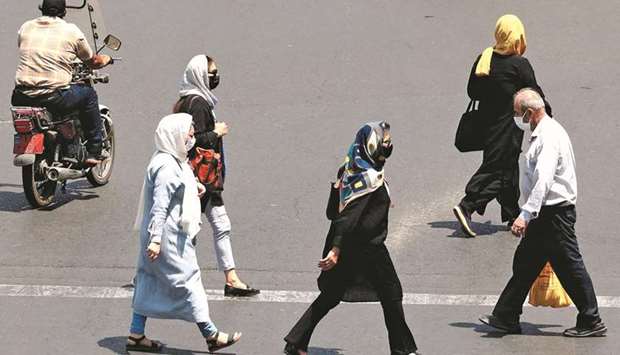
[[[532,288],[530,289],[529,303],[532,306],[543,307],[568,307],[572,301],[562,284],[560,279],[551,268],[551,264],[547,263],[538,275]]]

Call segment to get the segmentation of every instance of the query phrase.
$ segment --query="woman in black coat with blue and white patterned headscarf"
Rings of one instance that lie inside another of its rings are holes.
[[[391,202],[383,166],[391,153],[387,122],[367,123],[357,132],[327,206],[331,227],[318,263],[321,294],[284,338],[286,354],[307,354],[314,328],[340,301],[380,301],[391,354],[416,354],[400,280],[384,244]]]

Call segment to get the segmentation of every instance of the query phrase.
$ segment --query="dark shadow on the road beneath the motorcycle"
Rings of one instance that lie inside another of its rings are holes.
[[[0,190],[0,212],[19,213],[32,209],[26,200],[26,196],[22,190],[22,185],[0,183],[0,189],[5,187],[10,189],[19,189],[20,191]],[[92,188],[93,187],[86,180],[68,183],[65,192],[57,192],[56,200],[51,205],[40,208],[39,210],[53,211],[74,200],[90,200],[93,198],[98,198],[99,195],[90,190]]]

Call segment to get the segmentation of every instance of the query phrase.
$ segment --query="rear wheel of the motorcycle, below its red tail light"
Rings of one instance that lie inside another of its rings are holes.
[[[49,206],[54,202],[58,183],[45,176],[40,168],[41,158],[34,164],[22,166],[22,182],[28,203],[34,208]]]

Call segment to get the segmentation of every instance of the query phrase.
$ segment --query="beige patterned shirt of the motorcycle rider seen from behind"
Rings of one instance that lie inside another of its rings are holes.
[[[84,33],[58,17],[42,16],[22,25],[17,37],[19,65],[15,85],[29,96],[49,94],[69,86],[71,63],[86,61],[93,51]]]

